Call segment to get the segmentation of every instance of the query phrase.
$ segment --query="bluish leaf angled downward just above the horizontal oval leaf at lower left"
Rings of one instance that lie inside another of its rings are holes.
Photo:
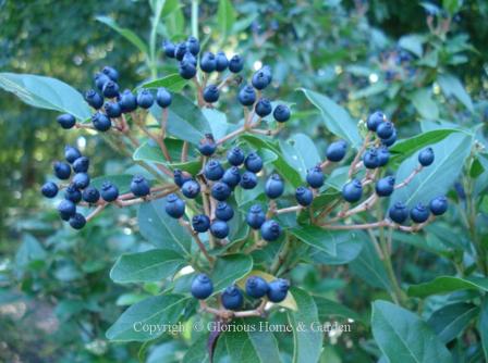
[[[192,237],[176,220],[164,212],[166,201],[158,199],[143,203],[138,210],[141,234],[161,249],[170,249],[184,255],[191,254]]]

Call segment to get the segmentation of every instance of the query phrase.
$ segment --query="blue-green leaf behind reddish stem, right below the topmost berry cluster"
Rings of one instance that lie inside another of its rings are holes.
[[[173,95],[171,107],[168,108],[167,130],[170,135],[181,140],[198,145],[205,134],[211,133],[207,118],[202,111],[187,98],[181,95]],[[152,116],[161,120],[161,108],[157,104],[150,108]]]

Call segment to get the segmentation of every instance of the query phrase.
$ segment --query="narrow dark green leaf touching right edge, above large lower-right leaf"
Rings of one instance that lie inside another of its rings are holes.
[[[431,281],[410,286],[408,296],[426,298],[431,295],[449,293],[465,289],[486,292],[488,291],[488,278],[438,276]]]

